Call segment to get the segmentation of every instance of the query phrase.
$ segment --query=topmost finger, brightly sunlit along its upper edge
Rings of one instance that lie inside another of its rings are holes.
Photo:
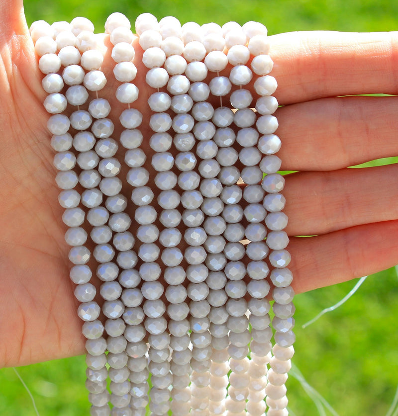
[[[270,36],[280,104],[398,89],[398,32],[294,32]]]

